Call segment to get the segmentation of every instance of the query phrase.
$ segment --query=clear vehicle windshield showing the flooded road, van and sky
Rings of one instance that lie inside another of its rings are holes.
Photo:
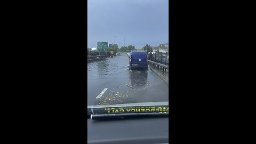
[[[168,102],[168,1],[87,3],[87,105]]]

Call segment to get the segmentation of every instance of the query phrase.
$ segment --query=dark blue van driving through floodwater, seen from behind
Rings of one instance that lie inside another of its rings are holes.
[[[143,68],[148,69],[147,52],[146,51],[132,51],[130,56],[130,69]]]

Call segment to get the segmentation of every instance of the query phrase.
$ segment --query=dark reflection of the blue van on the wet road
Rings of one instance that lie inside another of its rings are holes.
[[[147,70],[132,70],[129,74],[131,86],[140,88],[147,84]]]

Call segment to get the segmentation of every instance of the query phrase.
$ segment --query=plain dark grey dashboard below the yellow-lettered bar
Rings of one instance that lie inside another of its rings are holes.
[[[168,143],[169,117],[92,120],[87,143]]]

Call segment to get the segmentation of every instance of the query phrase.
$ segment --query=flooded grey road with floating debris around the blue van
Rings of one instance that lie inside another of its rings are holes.
[[[87,63],[87,105],[169,101],[168,85],[153,71],[129,70],[129,57]]]

